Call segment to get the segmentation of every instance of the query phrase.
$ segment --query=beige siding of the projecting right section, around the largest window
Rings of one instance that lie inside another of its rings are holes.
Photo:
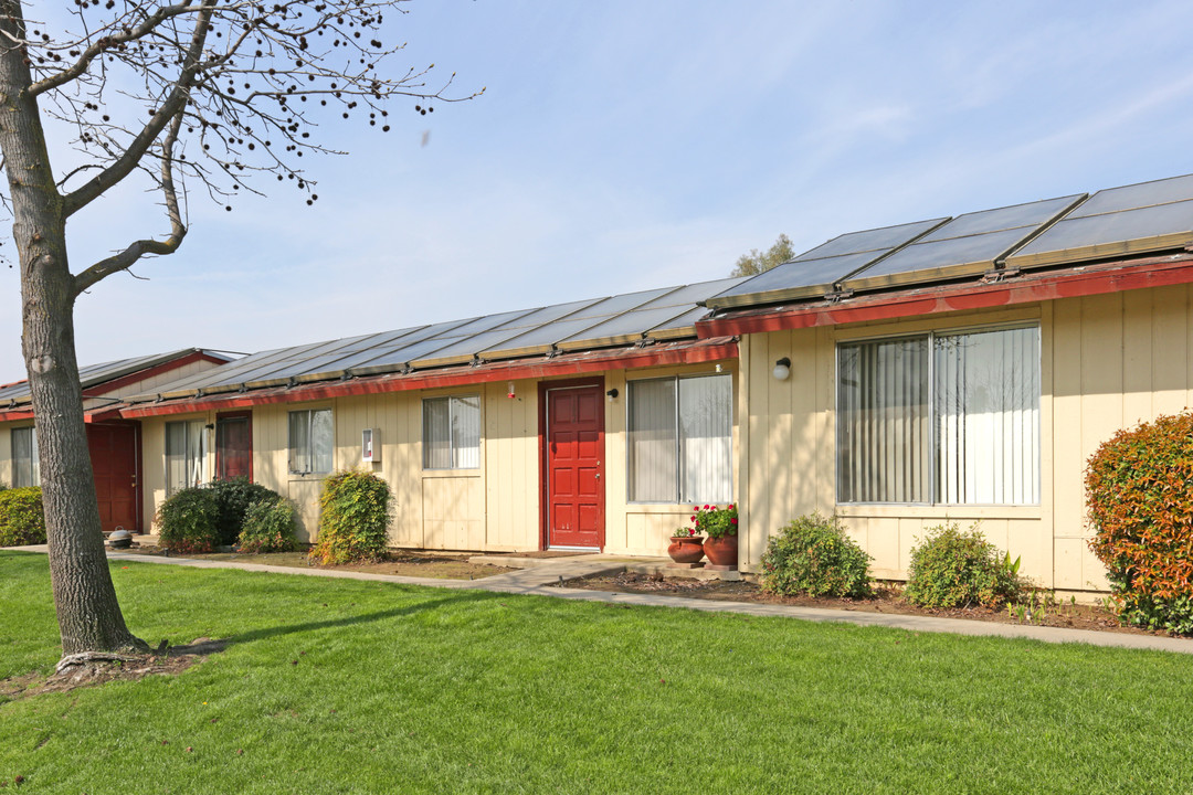
[[[979,522],[1037,583],[1104,590],[1087,546],[1084,462],[1117,430],[1189,403],[1191,287],[1063,299],[898,322],[749,335],[742,341],[740,460],[746,517],[742,563],[756,569],[767,538],[790,518],[836,511],[882,577],[905,577],[911,546],[945,521]],[[1033,321],[1040,324],[1038,505],[836,505],[836,344],[847,340]],[[771,369],[791,358],[791,378]]]

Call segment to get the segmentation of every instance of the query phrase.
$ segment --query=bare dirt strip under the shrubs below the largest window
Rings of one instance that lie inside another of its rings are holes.
[[[1163,632],[1149,632],[1138,627],[1124,627],[1109,610],[1098,604],[1045,603],[1043,597],[1037,600],[1034,609],[1030,602],[1025,604],[1022,615],[1020,615],[1019,605],[1000,610],[989,610],[987,608],[933,610],[907,602],[902,596],[901,588],[896,584],[879,584],[874,598],[870,600],[775,596],[764,592],[758,585],[746,580],[729,582],[715,579],[703,582],[698,579],[663,579],[660,574],[637,574],[632,572],[574,579],[565,583],[565,586],[616,594],[663,594],[722,602],[789,604],[792,607],[824,608],[828,610],[922,615],[938,619],[1067,627],[1070,629],[1094,629],[1098,632],[1121,632],[1139,635],[1167,634]]]

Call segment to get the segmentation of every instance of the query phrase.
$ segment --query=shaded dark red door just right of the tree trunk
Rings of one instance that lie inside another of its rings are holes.
[[[87,426],[99,521],[105,533],[117,527],[130,533],[141,530],[141,486],[137,484],[140,436],[140,428],[135,424]]]

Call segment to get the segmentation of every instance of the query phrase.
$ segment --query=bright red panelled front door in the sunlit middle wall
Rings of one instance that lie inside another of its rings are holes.
[[[600,385],[546,391],[548,547],[605,546],[605,405]]]

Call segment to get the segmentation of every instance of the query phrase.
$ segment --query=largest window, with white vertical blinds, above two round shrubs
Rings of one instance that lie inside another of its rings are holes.
[[[837,348],[837,502],[1039,503],[1039,328]]]

